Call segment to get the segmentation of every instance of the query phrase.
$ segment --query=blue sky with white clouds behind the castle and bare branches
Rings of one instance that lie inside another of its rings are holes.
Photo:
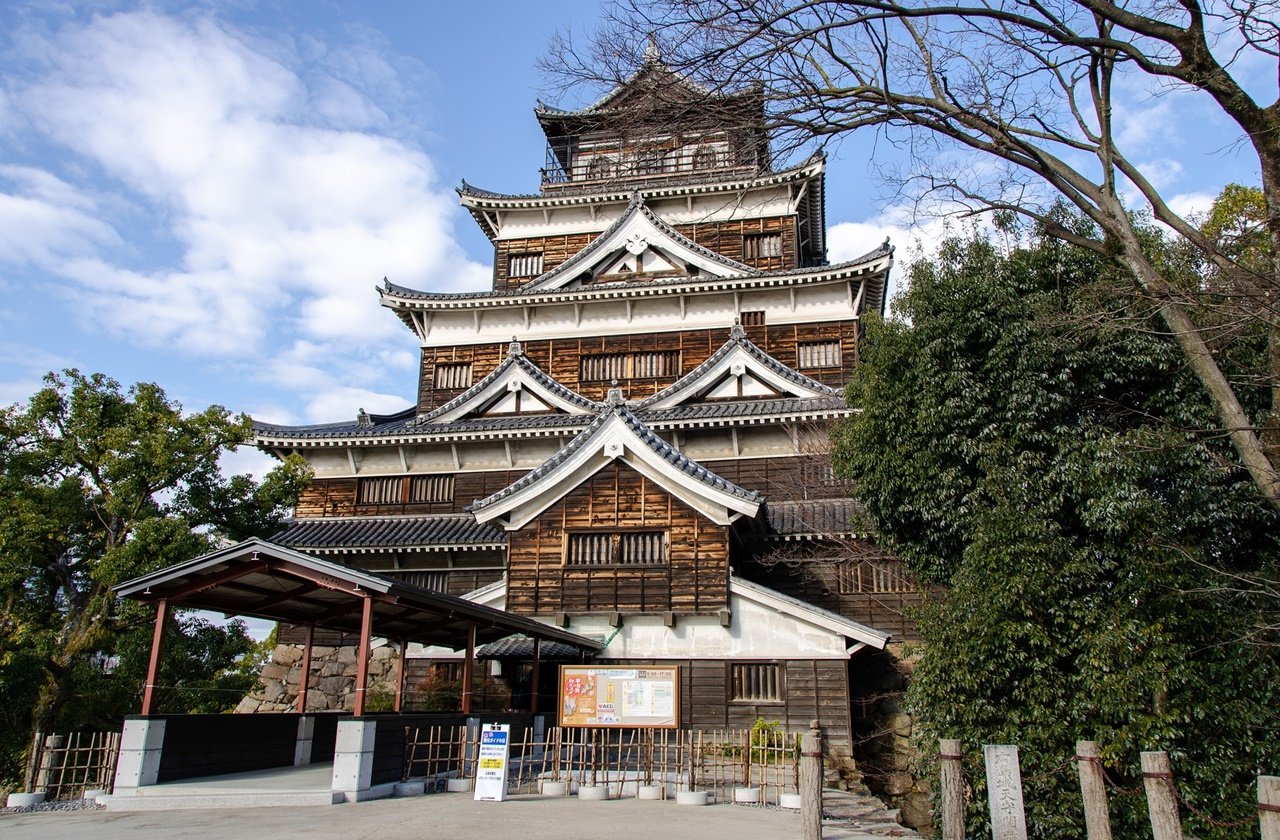
[[[590,0],[4,4],[0,403],[76,366],[276,423],[407,406],[416,346],[374,286],[484,287],[490,246],[453,188],[536,191],[531,110],[550,85],[535,61],[598,14]],[[1133,90],[1125,123],[1176,206],[1257,183],[1201,100]],[[832,259],[937,236],[877,183],[893,154],[873,136],[835,150]]]

